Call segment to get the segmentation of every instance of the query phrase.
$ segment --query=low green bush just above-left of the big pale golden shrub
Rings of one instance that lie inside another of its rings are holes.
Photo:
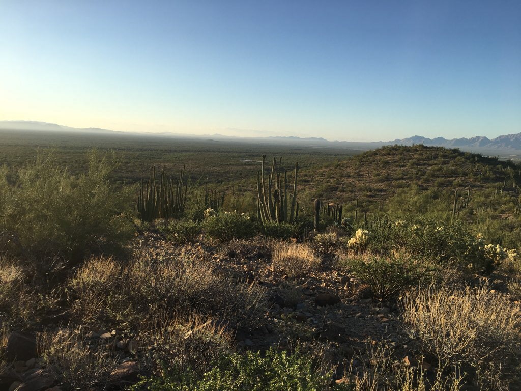
[[[406,253],[389,255],[351,253],[341,265],[366,284],[378,300],[388,300],[432,278],[436,267]]]

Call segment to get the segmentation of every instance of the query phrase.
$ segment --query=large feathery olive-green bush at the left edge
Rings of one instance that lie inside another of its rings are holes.
[[[109,184],[114,162],[91,152],[88,171],[72,176],[40,153],[18,170],[16,186],[3,189],[0,232],[13,231],[24,247],[47,254],[74,256],[121,243],[132,232],[130,218],[122,215],[130,193]]]

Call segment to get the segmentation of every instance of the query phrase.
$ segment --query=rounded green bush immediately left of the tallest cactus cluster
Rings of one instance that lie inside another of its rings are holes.
[[[205,217],[203,222],[206,234],[220,242],[231,239],[249,239],[256,235],[257,229],[250,217],[244,213],[221,212]]]

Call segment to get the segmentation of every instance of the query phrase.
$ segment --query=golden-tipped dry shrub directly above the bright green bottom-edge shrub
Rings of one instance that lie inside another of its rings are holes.
[[[147,350],[148,364],[162,368],[177,366],[181,370],[208,369],[217,357],[232,346],[232,335],[224,325],[217,325],[209,316],[196,313],[171,316],[156,315],[140,340]]]

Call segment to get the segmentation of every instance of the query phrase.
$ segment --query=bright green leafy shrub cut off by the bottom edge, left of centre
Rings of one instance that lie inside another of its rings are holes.
[[[145,378],[131,389],[151,391],[322,391],[329,377],[320,374],[312,360],[300,353],[289,355],[274,349],[229,355],[212,370],[198,376],[194,371],[167,372]]]

